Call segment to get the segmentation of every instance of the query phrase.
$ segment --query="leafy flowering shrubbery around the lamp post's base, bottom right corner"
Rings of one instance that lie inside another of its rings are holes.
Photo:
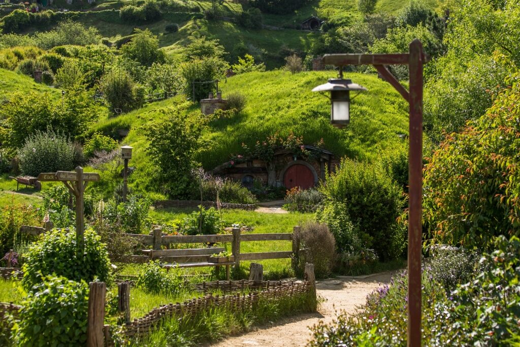
[[[520,341],[520,239],[499,237],[496,247],[478,266],[458,266],[457,253],[425,265],[424,346],[508,346]],[[454,278],[460,281],[451,292],[443,286],[446,264],[459,269]],[[309,345],[406,346],[407,287],[406,273],[398,275],[371,293],[354,316],[341,314],[330,325],[319,324]]]

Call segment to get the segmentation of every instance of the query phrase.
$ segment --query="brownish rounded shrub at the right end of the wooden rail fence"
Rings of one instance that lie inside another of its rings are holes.
[[[308,222],[293,238],[300,243],[300,249],[304,249],[295,259],[298,272],[303,273],[305,263],[314,264],[316,278],[327,278],[336,260],[336,242],[327,225]]]

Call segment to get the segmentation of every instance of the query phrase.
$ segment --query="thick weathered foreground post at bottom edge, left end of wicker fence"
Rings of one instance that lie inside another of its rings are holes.
[[[104,347],[105,282],[90,282],[88,294],[87,347]]]

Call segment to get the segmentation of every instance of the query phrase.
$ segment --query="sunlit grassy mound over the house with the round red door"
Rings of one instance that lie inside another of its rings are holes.
[[[253,146],[277,131],[281,136],[290,131],[303,135],[306,144],[323,138],[325,148],[337,156],[360,160],[377,160],[389,149],[405,150],[405,142],[397,135],[408,133],[408,104],[375,75],[347,75],[369,91],[354,99],[348,127],[340,130],[330,125],[329,99],[311,89],[332,76],[333,71],[295,75],[287,71],[253,72],[233,76],[221,84],[224,97],[239,92],[246,97],[247,104],[240,114],[210,124],[210,131],[204,136],[211,139],[212,145],[200,157],[204,168],[211,170],[229,160],[232,153],[240,153],[242,143]],[[119,128],[131,130],[124,143],[135,148],[132,165],[139,168],[134,174],[134,184],[138,186],[146,186],[146,170],[153,170],[146,156],[147,141],[142,129],[150,122],[161,121],[163,116],[158,110],[168,106],[184,109],[186,114],[198,110],[198,106],[178,96],[101,120],[93,129],[107,135],[115,134]]]

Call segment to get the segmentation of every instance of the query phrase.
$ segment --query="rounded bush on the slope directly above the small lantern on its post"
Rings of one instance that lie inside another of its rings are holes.
[[[144,88],[122,69],[112,69],[101,80],[101,90],[112,110],[128,112],[142,106]]]

